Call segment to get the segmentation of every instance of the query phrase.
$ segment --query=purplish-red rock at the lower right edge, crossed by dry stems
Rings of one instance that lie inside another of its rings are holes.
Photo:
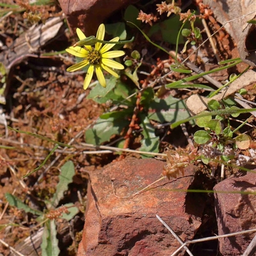
[[[255,228],[256,173],[248,172],[241,177],[223,180],[214,190],[219,235]],[[243,195],[239,191],[252,192],[254,195]],[[221,238],[220,252],[225,256],[242,255],[254,236],[255,234],[246,234]]]

